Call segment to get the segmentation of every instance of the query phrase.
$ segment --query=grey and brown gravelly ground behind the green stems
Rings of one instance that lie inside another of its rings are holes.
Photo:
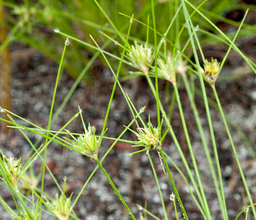
[[[14,45],[14,48],[16,48],[16,50],[12,52],[12,56],[14,57],[14,59],[12,59],[11,82],[12,111],[34,124],[46,127],[58,65],[37,51],[27,49],[23,46],[20,46],[19,48],[19,45]],[[101,72],[98,71],[93,75],[95,78],[93,83],[80,83],[66,107],[55,121],[53,127],[51,127],[52,129],[57,130],[62,127],[68,119],[77,112],[77,105],[80,105],[83,110],[85,122],[90,122],[91,125],[96,126],[96,133],[99,134],[103,125],[114,78],[111,76],[109,69],[102,67],[100,61],[97,61],[95,65],[96,67],[94,68],[98,67],[98,69],[101,69]],[[225,75],[235,72],[240,66],[243,68],[242,71],[245,71],[246,65],[242,60],[238,60],[235,67],[232,67],[229,63],[229,66],[223,70],[222,74]],[[63,73],[58,87],[57,98],[55,100],[55,111],[62,103],[74,82],[73,78],[68,76],[67,73]],[[124,81],[122,82],[122,85],[125,92],[131,96],[132,101],[138,109],[146,105],[142,117],[146,120],[150,114],[151,121],[155,125],[156,105],[145,79],[136,78],[130,81]],[[159,92],[162,100],[164,97],[164,85],[163,81],[159,81]],[[199,86],[197,81],[196,85]],[[216,90],[219,93],[220,102],[223,104],[223,108],[229,113],[232,120],[240,125],[241,129],[250,140],[250,143],[253,144],[254,151],[256,150],[256,136],[254,135],[256,126],[255,88],[256,77],[254,73],[249,73],[248,76],[238,78],[237,80],[218,82],[216,85]],[[209,87],[207,87],[207,93],[213,98]],[[191,117],[192,110],[189,107],[189,100],[182,85],[180,86],[180,97],[184,107],[193,150],[199,164],[203,186],[206,189],[206,196],[209,201],[212,218],[222,219],[206,156],[203,152],[196,123],[194,122],[193,117]],[[207,142],[209,146],[211,146],[203,101],[199,96],[195,96],[195,100],[205,129]],[[211,108],[211,116],[218,146],[219,160],[222,166],[228,214],[230,219],[234,219],[238,212],[243,208],[242,204],[248,204],[248,201],[245,199],[245,190],[242,187],[241,177],[233,157],[231,145],[227,138],[227,134],[225,133],[222,118],[214,108]],[[125,103],[121,91],[117,88],[111,106],[109,121],[107,122],[108,131],[106,135],[109,137],[118,137],[124,129],[123,125],[127,125],[131,119],[131,113],[129,113],[127,109],[127,104]],[[23,124],[21,120],[16,121]],[[189,164],[191,164],[177,107],[174,109],[171,124],[177,135],[177,139],[181,144],[181,148],[183,149]],[[133,129],[136,129],[136,127],[133,126]],[[76,118],[76,120],[68,126],[68,130],[79,133],[83,132],[80,118]],[[38,139],[38,135],[26,131],[25,133],[33,143]],[[248,180],[251,196],[254,199],[254,203],[256,203],[256,161],[252,159],[250,151],[245,147],[244,142],[242,142],[233,127],[231,127],[231,134],[245,177]],[[134,135],[130,132],[126,133],[123,138],[135,140]],[[99,158],[103,156],[110,145],[111,142],[109,140],[104,140],[102,142]],[[6,133],[3,133],[2,131],[0,147],[2,151],[5,152],[6,156],[15,158],[21,156],[23,161],[26,160],[27,152],[31,149],[24,137],[15,129],[10,129]],[[63,177],[67,176],[67,195],[70,195],[70,193],[73,192],[72,198],[75,199],[77,193],[79,193],[81,187],[83,187],[84,182],[96,167],[96,163],[55,143],[51,143],[47,149],[47,165],[60,184],[63,184]],[[185,169],[182,165],[179,153],[170,137],[167,137],[164,142],[163,149],[171,156],[172,160],[176,162],[176,165],[184,171]],[[133,151],[133,149],[128,144],[118,143],[102,162],[102,165],[115,182],[125,201],[131,206],[131,210],[136,218],[139,218],[141,213],[141,210],[137,208],[136,204],[144,205],[145,199],[147,199],[147,209],[159,218],[163,218],[161,201],[153,172],[150,169],[149,160],[145,153],[136,154],[133,157],[128,156],[128,153],[131,151]],[[213,156],[213,151],[211,151],[211,154]],[[157,152],[151,152],[151,156],[159,177],[159,184],[162,189],[164,203],[167,207],[168,217],[174,219],[175,213],[173,210],[173,203],[169,199],[173,189],[168,178],[163,173]],[[34,162],[33,167],[35,172],[38,173],[41,167],[41,161],[37,160]],[[183,179],[181,179],[179,173],[177,173],[173,166],[170,167],[173,178],[179,189],[181,199],[183,199],[183,203],[185,204],[186,212],[189,213],[189,218],[203,219],[197,206],[192,201]],[[145,190],[143,184],[145,184]],[[46,173],[46,193],[54,196],[55,193],[58,192],[57,190],[58,189],[55,187],[49,173]],[[0,195],[12,208],[15,208],[7,187],[1,186]],[[0,206],[0,213],[0,219],[10,219],[2,206]],[[75,206],[75,213],[79,218],[88,220],[129,219],[122,203],[120,203],[109,182],[100,170],[96,171],[92,180],[83,191]],[[49,220],[54,219],[46,215],[42,217],[42,219],[46,218]],[[243,218],[244,217],[241,217],[241,219]],[[148,219],[152,218],[148,217]]]

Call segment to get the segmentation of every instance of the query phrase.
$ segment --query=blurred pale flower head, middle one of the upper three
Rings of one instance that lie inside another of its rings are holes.
[[[160,74],[160,76],[162,76],[165,80],[175,84],[176,77],[175,77],[175,73],[173,72],[172,57],[170,52],[167,55],[167,60],[158,58],[157,63],[158,63],[158,73]]]

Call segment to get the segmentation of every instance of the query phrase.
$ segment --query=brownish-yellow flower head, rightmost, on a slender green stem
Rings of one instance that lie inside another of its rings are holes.
[[[211,58],[211,62],[205,60],[205,64],[203,65],[205,69],[201,69],[201,72],[205,75],[207,80],[209,80],[211,85],[215,84],[215,81],[218,77],[219,65],[220,63],[216,59]]]

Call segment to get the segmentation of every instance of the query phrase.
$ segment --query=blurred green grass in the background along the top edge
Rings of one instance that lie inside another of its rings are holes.
[[[135,19],[147,23],[147,16],[149,15],[149,24],[153,27],[151,22],[151,1],[141,0],[99,0],[99,4],[107,12],[115,26],[123,33],[127,32],[128,17],[120,15],[122,12],[125,15],[134,15]],[[244,15],[246,8],[255,10],[256,7],[249,5],[251,1],[240,0],[223,0],[223,1],[191,1],[195,6],[202,4],[201,11],[212,20],[219,24],[232,24],[233,28],[227,28],[224,31],[232,36],[236,32],[236,26]],[[96,3],[89,1],[49,1],[49,0],[24,0],[24,1],[2,1],[3,6],[6,6],[5,27],[9,29],[9,34],[6,42],[1,46],[8,45],[8,43],[16,41],[29,45],[51,59],[59,61],[60,53],[62,52],[64,39],[59,34],[54,33],[53,29],[58,28],[61,32],[69,34],[70,36],[81,39],[91,45],[94,45],[89,34],[96,39],[101,46],[106,42],[99,31],[108,34],[111,37],[115,36],[115,30],[107,21],[106,17],[98,9]],[[179,0],[158,0],[155,1],[155,14],[157,20],[157,30],[160,33],[166,32],[168,25],[177,11]],[[193,8],[190,8],[190,13]],[[184,25],[184,16],[179,12],[178,19],[172,25],[170,32],[168,32],[168,39],[175,42],[177,34]],[[197,13],[193,15],[194,24],[207,33],[217,34],[215,30],[210,27]],[[225,26],[223,26],[224,28]],[[246,28],[240,37],[252,36],[255,33],[255,26],[253,24],[245,24]],[[146,41],[146,27],[144,25],[135,23],[131,30],[130,39],[137,39],[138,42]],[[216,42],[211,38],[209,41],[209,34],[200,32],[200,39],[202,46],[212,45]],[[116,38],[119,41],[118,38]],[[160,40],[160,37],[158,41]],[[187,33],[184,32],[180,38],[180,45],[188,40]],[[153,32],[149,34],[149,42],[153,43]],[[72,43],[72,42],[71,42]],[[219,42],[220,43],[220,42]],[[171,49],[171,48],[170,48]],[[107,50],[113,54],[118,55],[120,47],[110,43]],[[189,48],[187,50],[190,50]],[[79,43],[72,43],[72,49],[67,54],[66,70],[73,76],[79,76],[81,70],[84,68],[88,60],[96,52],[90,47],[85,48]],[[189,52],[187,53],[189,54]],[[93,69],[90,69],[93,73]],[[126,71],[123,71],[126,72]],[[92,76],[86,74],[85,80],[93,80]]]

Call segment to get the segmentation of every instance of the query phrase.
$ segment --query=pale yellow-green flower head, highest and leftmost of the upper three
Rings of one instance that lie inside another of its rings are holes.
[[[138,45],[135,41],[134,45],[132,45],[132,51],[129,52],[128,55],[134,67],[140,69],[144,74],[147,74],[149,72],[147,64],[151,64],[153,61],[152,53],[151,47]]]

